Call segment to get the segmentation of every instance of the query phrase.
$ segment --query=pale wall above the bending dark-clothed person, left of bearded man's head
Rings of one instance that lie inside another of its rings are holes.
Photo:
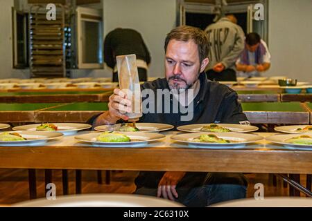
[[[104,35],[115,28],[141,33],[152,61],[148,75],[164,76],[164,39],[175,27],[176,0],[103,0]]]

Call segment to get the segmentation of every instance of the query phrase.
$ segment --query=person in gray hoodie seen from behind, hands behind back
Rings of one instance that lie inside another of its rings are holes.
[[[243,52],[245,34],[231,16],[205,29],[209,40],[209,64],[205,71],[211,81],[236,81],[235,62]]]

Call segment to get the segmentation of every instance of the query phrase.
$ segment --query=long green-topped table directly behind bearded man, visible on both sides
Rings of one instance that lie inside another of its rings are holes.
[[[243,102],[253,124],[309,124],[311,110],[300,102]],[[0,122],[87,122],[107,111],[107,102],[0,104]]]

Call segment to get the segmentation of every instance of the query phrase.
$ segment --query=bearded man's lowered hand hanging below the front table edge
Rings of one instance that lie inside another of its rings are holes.
[[[166,172],[158,184],[157,198],[162,197],[169,200],[178,198],[175,187],[184,175],[185,172]]]

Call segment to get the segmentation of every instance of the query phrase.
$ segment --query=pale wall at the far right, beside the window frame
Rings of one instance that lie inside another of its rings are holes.
[[[267,75],[287,75],[312,83],[312,1],[269,1]]]

